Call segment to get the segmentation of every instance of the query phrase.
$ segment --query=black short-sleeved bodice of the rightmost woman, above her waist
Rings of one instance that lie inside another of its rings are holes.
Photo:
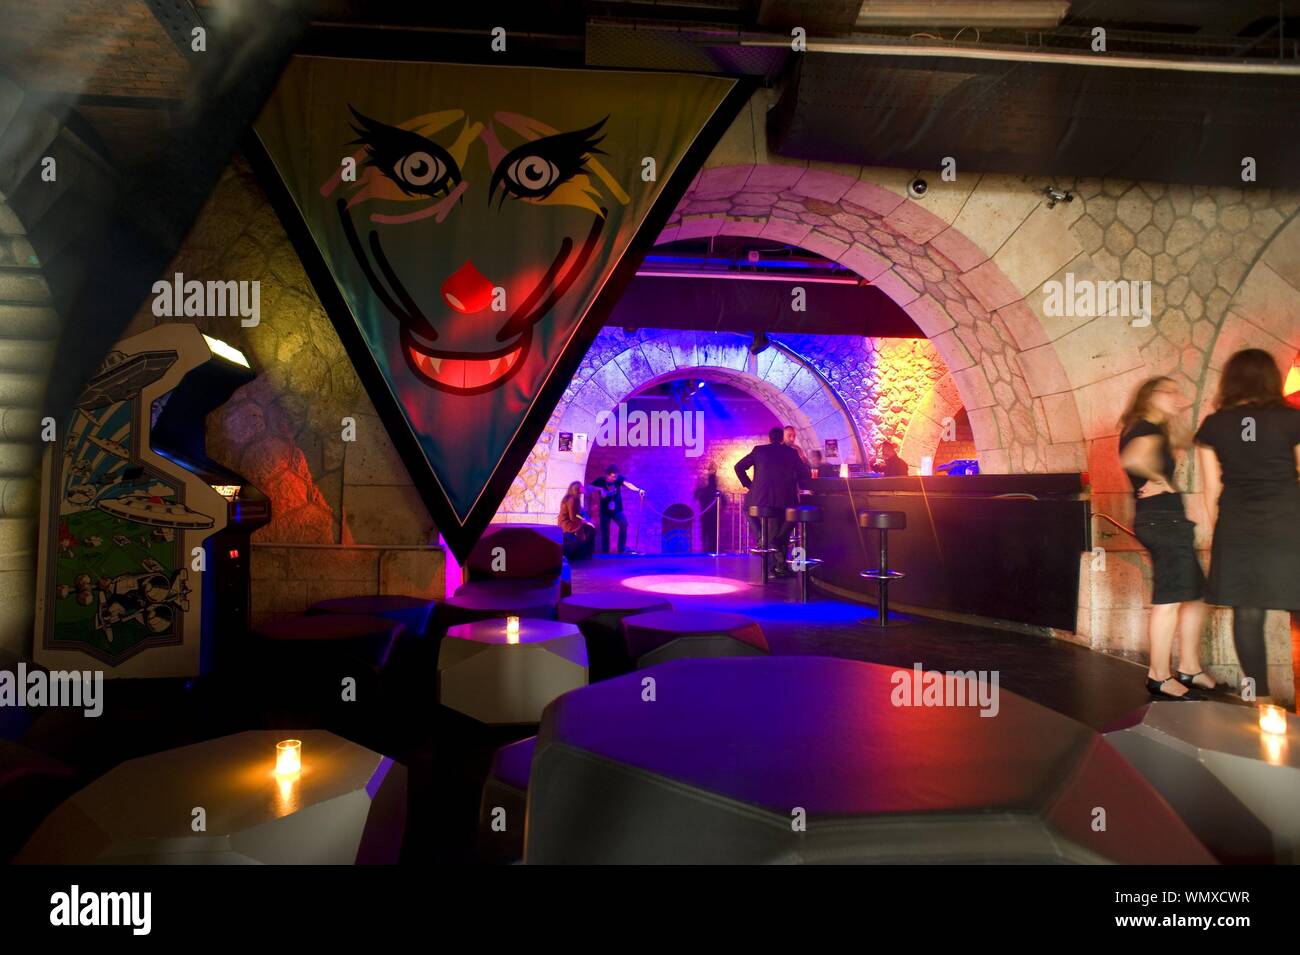
[[[1196,443],[1214,448],[1225,492],[1295,492],[1300,408],[1277,404],[1217,411],[1201,422]]]

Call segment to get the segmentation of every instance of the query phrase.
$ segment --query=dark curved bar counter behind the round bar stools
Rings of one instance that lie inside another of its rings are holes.
[[[906,577],[889,585],[890,605],[1074,630],[1079,560],[1092,548],[1086,481],[1078,473],[814,478],[803,498],[823,509],[809,533],[807,556],[824,561],[814,586],[875,603],[875,581],[858,573],[879,564],[878,531],[859,528],[857,513],[902,511],[907,528],[889,531],[889,567]]]

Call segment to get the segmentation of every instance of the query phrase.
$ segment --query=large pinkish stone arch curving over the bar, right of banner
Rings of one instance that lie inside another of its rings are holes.
[[[1074,394],[1026,283],[923,203],[866,178],[874,173],[890,170],[854,178],[798,164],[706,168],[659,242],[763,236],[840,262],[888,294],[935,344],[985,472],[1082,469]]]

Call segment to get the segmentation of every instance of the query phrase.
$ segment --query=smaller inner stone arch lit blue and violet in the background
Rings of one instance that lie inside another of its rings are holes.
[[[507,513],[559,509],[572,481],[582,481],[590,456],[586,448],[555,450],[560,431],[593,435],[597,414],[619,401],[666,381],[694,376],[731,385],[766,404],[783,422],[794,425],[806,447],[828,438],[840,444],[841,460],[861,461],[862,440],[853,416],[829,382],[792,348],[774,342],[762,353],[749,353],[749,337],[736,333],[646,330],[633,335],[607,330],[589,352],[556,405],[546,433],[525,465],[524,489],[514,489]],[[526,472],[533,469],[532,494]]]

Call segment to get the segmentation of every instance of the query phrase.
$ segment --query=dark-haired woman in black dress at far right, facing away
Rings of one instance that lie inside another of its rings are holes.
[[[1258,348],[1227,360],[1216,408],[1196,433],[1214,529],[1206,599],[1232,608],[1242,673],[1269,702],[1265,612],[1300,611],[1300,409]]]

